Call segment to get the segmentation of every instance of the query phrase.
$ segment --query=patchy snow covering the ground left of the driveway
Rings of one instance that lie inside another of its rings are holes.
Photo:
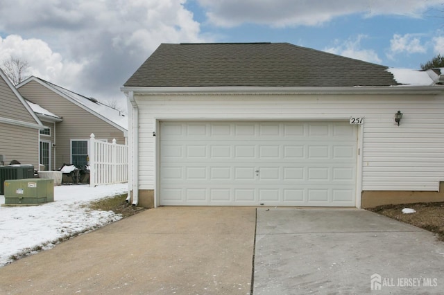
[[[112,211],[92,211],[85,204],[128,192],[127,184],[54,187],[54,202],[38,206],[0,206],[0,267],[35,249],[51,249],[59,239],[97,229],[121,219]],[[0,195],[0,204],[5,198]]]

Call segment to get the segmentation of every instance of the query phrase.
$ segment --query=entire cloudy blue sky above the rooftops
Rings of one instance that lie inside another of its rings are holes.
[[[289,42],[419,69],[444,54],[444,0],[0,0],[0,62],[84,96],[120,87],[161,43]]]

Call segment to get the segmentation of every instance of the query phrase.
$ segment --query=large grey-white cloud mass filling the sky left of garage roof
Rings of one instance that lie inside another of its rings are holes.
[[[35,75],[85,96],[123,99],[120,87],[160,43],[210,41],[185,1],[0,0],[0,55],[23,54]]]

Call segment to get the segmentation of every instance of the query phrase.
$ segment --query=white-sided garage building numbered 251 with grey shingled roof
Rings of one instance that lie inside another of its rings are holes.
[[[444,201],[440,73],[285,43],[162,44],[122,88],[133,204]]]

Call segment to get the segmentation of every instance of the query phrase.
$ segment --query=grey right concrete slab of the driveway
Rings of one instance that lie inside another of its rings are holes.
[[[355,208],[257,209],[255,295],[443,294],[443,274],[444,242],[415,226]]]

